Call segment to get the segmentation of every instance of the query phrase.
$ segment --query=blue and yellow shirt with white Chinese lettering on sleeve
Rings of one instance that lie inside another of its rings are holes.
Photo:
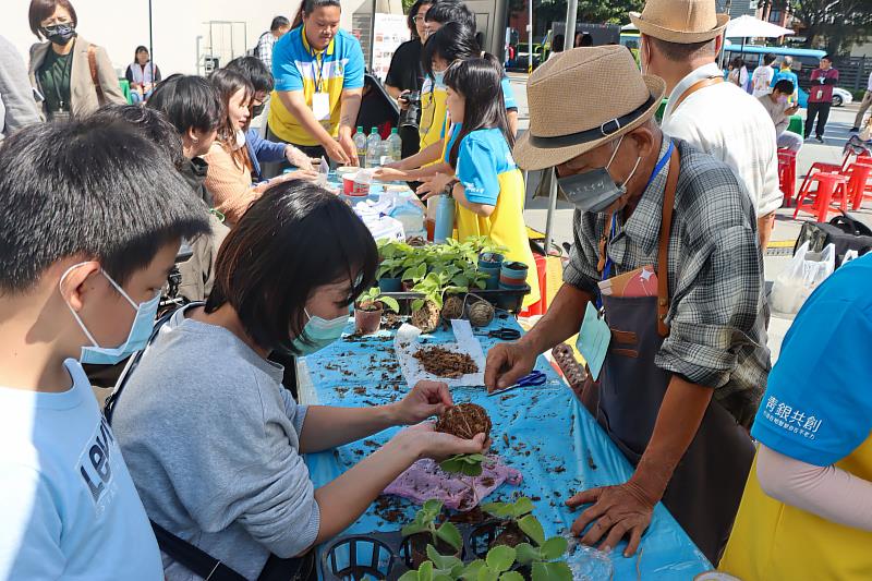
[[[872,481],[872,256],[836,270],[785,337],[751,435],[818,467]],[[744,581],[869,579],[872,532],[763,492],[754,462],[719,569]]]

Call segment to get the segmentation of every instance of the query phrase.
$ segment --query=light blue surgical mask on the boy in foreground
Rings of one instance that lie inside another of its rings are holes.
[[[81,266],[81,264],[73,265],[66,269],[61,277],[61,285],[63,283],[63,279],[66,278],[66,275],[69,275],[70,271],[76,266]],[[66,303],[66,306],[73,314],[75,322],[78,323],[78,326],[82,328],[85,337],[87,337],[92,343],[92,347],[82,348],[82,356],[80,361],[82,363],[90,363],[93,365],[114,365],[116,363],[125,360],[136,351],[142,351],[145,349],[145,346],[148,344],[148,339],[152,337],[152,330],[155,326],[157,307],[160,304],[160,293],[158,292],[150,301],[136,304],[133,299],[131,299],[130,295],[124,292],[124,289],[122,289],[118,282],[112,280],[112,277],[107,275],[102,269],[100,269],[100,273],[106,277],[106,280],[108,280],[109,283],[116,288],[121,296],[123,296],[124,300],[130,303],[131,307],[136,311],[136,316],[133,319],[133,325],[131,325],[126,340],[118,347],[100,347],[87,327],[85,327],[85,324],[82,322],[78,313],[76,313],[73,307],[70,306],[70,303]]]

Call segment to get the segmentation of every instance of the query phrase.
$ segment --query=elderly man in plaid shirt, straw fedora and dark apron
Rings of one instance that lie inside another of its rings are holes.
[[[608,548],[629,536],[631,555],[663,499],[716,562],[770,370],[763,265],[732,171],[653,120],[665,90],[619,46],[569,50],[530,77],[530,131],[514,156],[525,169],[557,167],[576,241],[547,314],[489,351],[485,384],[511,385],[579,332],[591,374],[582,400],[637,468],[573,496],[570,507],[593,506],[572,531],[591,524],[583,541]]]

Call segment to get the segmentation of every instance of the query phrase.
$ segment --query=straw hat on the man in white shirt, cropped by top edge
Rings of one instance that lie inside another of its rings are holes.
[[[729,14],[716,10],[715,0],[647,0],[641,14],[630,12],[630,22],[644,35],[690,45],[720,35]]]

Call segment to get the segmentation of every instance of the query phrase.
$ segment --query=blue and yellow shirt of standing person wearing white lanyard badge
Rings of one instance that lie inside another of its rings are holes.
[[[276,92],[302,90],[312,107],[316,92],[330,96],[327,131],[339,134],[342,90],[363,87],[361,44],[346,31],[339,31],[325,50],[314,50],[306,40],[305,27],[299,26],[282,36],[272,49],[272,76]],[[274,93],[269,106],[269,129],[281,140],[295,145],[318,145]]]

